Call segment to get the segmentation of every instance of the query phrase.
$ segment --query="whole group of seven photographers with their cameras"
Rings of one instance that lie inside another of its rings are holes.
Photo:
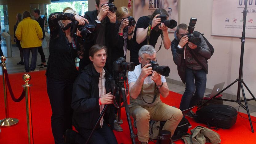
[[[151,119],[166,121],[163,130],[174,134],[182,119],[181,110],[194,106],[203,97],[206,58],[211,55],[202,36],[193,37],[196,19],[190,21],[190,26],[177,26],[176,21],[168,19],[166,10],[158,8],[136,23],[126,7],[117,10],[109,0],[96,0],[96,10],[86,12],[84,17],[69,7],[50,14],[46,78],[56,144],[85,143],[88,138],[89,143],[117,143],[112,130],[123,129],[119,125],[122,120],[117,118],[118,109],[112,105],[119,98],[114,87],[118,78],[120,81],[116,74],[122,73],[126,78],[126,70],[129,113],[136,120],[138,140],[148,143]],[[176,26],[175,39],[171,41],[167,28]],[[165,77],[170,73],[168,66],[157,63],[154,46],[160,35],[161,45],[163,41],[166,50],[171,47],[174,63],[186,83],[179,109],[160,100],[160,94],[163,98],[169,94]],[[127,50],[131,63],[125,61]],[[78,70],[76,57],[80,59]],[[102,111],[104,116],[95,125]],[[190,111],[188,115],[193,117],[194,113]],[[90,135],[94,126],[96,129]]]

